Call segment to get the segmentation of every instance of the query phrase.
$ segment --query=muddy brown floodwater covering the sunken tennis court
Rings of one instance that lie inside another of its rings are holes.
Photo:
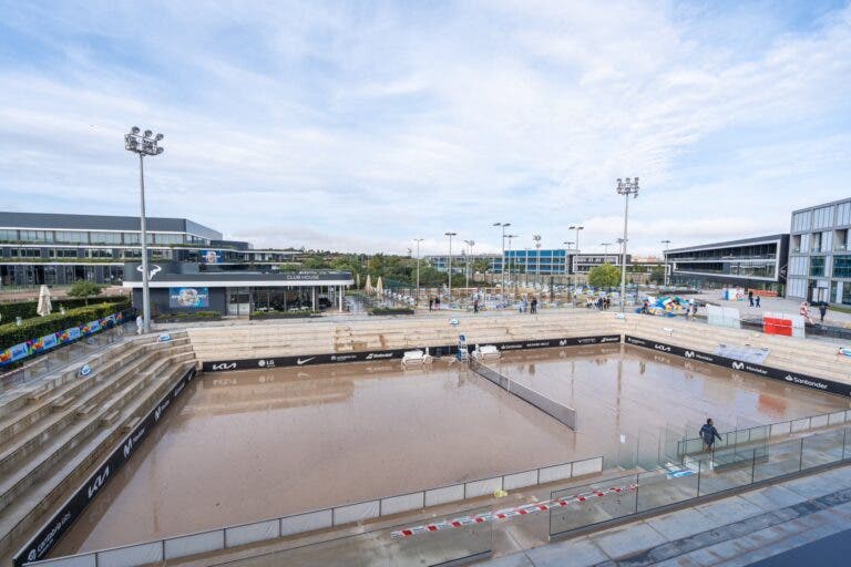
[[[666,363],[669,362],[669,363]],[[399,362],[204,377],[53,556],[115,547],[597,455],[711,415],[769,423],[838,396],[618,347],[511,353],[501,371],[576,408],[572,432],[458,367]]]

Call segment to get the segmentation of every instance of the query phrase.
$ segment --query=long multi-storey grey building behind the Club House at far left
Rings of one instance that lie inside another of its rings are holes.
[[[295,250],[255,250],[186,218],[148,217],[152,260],[270,267]],[[117,285],[124,262],[142,257],[139,217],[0,212],[0,288]]]

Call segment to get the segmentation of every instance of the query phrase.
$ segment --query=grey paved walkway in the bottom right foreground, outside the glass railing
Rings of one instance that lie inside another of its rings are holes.
[[[851,465],[845,465],[479,565],[746,566],[850,527]],[[800,565],[808,564],[830,565],[812,557]]]

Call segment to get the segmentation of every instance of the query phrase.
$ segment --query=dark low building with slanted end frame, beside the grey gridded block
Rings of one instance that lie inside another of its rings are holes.
[[[778,234],[665,251],[670,282],[700,288],[736,286],[772,290],[786,286],[789,235]]]

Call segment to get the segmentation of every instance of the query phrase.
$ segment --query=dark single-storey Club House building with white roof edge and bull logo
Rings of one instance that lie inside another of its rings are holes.
[[[148,262],[151,311],[192,313],[218,311],[224,316],[250,316],[255,311],[342,310],[348,271],[233,269],[204,262]],[[142,305],[142,265],[124,265],[124,287],[132,289],[133,305]]]

